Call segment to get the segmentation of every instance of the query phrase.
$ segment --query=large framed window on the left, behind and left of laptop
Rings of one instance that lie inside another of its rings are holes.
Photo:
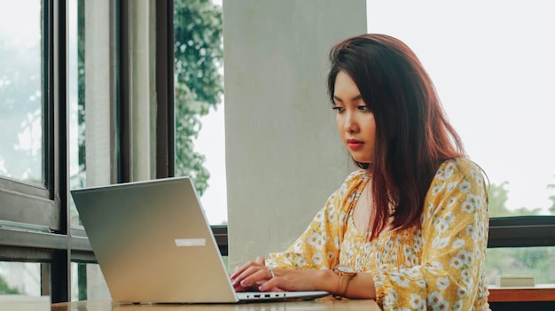
[[[172,174],[172,5],[26,0],[0,12],[0,292],[108,297],[68,190]]]

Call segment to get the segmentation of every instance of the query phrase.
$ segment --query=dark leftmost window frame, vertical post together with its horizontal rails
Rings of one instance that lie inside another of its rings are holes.
[[[0,260],[42,263],[42,294],[69,298],[66,20],[64,0],[43,6],[44,187],[0,179]]]

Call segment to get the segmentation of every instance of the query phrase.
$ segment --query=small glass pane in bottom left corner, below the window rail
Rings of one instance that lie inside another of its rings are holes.
[[[41,264],[0,261],[0,295],[41,296]]]

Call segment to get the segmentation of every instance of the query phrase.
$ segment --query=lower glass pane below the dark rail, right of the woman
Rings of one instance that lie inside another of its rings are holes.
[[[555,246],[489,248],[486,253],[487,284],[497,276],[534,276],[535,284],[555,283]]]

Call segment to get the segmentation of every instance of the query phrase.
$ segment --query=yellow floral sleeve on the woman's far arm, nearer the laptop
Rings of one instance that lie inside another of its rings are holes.
[[[353,192],[363,181],[362,171],[348,176],[340,189],[332,193],[309,227],[285,252],[270,253],[266,266],[270,268],[332,268],[339,261],[348,207]]]

